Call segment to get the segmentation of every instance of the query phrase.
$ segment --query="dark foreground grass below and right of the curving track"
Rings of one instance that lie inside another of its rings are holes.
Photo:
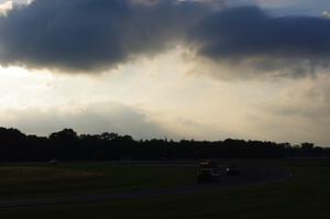
[[[212,189],[189,195],[0,209],[0,218],[330,218],[329,161],[299,160],[279,164],[287,165],[292,169],[294,176],[289,180]],[[140,174],[144,171],[151,173],[148,167],[138,171]],[[180,178],[182,173],[176,175],[177,172],[179,169],[166,168],[164,173]],[[187,171],[188,177],[191,177],[191,173]],[[183,183],[184,179],[178,182]]]

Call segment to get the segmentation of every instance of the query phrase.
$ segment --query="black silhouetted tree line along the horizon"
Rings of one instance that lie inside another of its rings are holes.
[[[105,132],[80,134],[72,129],[48,136],[26,135],[18,129],[0,128],[0,162],[119,161],[179,158],[283,158],[324,157],[330,149],[312,143],[292,145],[270,141],[134,140]]]

